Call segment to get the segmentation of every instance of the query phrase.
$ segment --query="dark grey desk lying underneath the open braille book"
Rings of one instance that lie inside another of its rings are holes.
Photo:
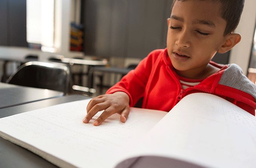
[[[38,108],[48,107],[51,105],[61,104],[65,102],[77,101],[88,99],[82,95],[70,95],[63,96],[60,98],[46,99],[37,102],[31,102],[28,104],[18,105],[14,107],[0,109],[0,118],[23,113],[26,111],[36,110]],[[82,122],[82,121],[81,121]],[[0,167],[4,168],[57,168],[57,166],[49,163],[45,159],[36,154],[32,153],[25,148],[19,147],[18,145],[12,144],[3,138],[0,138]]]

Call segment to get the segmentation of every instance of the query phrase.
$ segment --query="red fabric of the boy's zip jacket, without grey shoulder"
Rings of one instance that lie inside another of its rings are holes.
[[[120,82],[117,82],[106,93],[122,91],[130,97],[130,106],[143,97],[142,108],[170,111],[184,96],[203,92],[220,96],[237,106],[255,115],[256,103],[252,95],[233,87],[219,84],[222,74],[229,66],[220,66],[210,62],[213,66],[221,68],[204,79],[200,84],[182,89],[179,76],[174,71],[167,49],[151,52],[144,58],[135,70],[131,70]],[[193,79],[187,79],[194,81]],[[251,82],[252,85],[254,85]],[[253,86],[255,87],[255,86]]]

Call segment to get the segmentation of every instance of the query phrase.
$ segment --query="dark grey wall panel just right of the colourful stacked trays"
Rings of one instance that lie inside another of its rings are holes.
[[[108,57],[110,55],[113,0],[85,2],[85,53]]]

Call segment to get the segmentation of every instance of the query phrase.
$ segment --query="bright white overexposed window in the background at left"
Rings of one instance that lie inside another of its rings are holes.
[[[30,47],[54,52],[54,4],[54,0],[26,1],[27,42]]]

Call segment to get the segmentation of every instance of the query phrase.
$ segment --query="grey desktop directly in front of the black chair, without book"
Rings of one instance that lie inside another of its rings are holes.
[[[62,92],[0,82],[0,109],[63,96]]]

